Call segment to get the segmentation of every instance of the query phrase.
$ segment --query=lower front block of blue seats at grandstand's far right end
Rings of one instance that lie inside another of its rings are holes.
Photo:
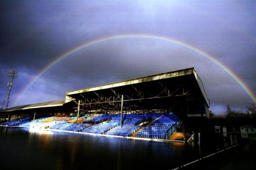
[[[147,126],[138,132],[135,137],[166,139],[166,133],[170,126]]]

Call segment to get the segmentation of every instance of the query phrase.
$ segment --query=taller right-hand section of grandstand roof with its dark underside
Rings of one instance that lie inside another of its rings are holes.
[[[124,95],[124,101],[130,106],[159,106],[178,98],[203,99],[210,106],[201,79],[194,68],[69,91],[66,92],[66,101],[81,100],[83,106],[119,108],[115,103],[120,104],[121,95]]]

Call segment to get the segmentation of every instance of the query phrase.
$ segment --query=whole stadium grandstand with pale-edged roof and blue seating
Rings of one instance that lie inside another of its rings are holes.
[[[194,68],[66,92],[64,100],[13,107],[2,126],[170,140],[200,131],[209,101]]]

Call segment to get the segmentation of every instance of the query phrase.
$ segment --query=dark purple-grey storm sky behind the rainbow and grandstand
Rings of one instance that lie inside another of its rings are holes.
[[[122,38],[94,44],[47,64],[83,43],[123,34],[176,39],[210,55],[256,92],[256,1],[0,1],[0,99],[8,70],[18,70],[10,106],[61,100],[65,92],[195,67],[211,102],[245,109],[253,102],[217,64],[172,42]],[[19,100],[17,100],[19,99]]]

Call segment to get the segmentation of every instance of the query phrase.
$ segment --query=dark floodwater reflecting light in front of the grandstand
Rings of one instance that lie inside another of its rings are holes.
[[[0,127],[1,169],[172,169],[202,152],[177,142]]]

